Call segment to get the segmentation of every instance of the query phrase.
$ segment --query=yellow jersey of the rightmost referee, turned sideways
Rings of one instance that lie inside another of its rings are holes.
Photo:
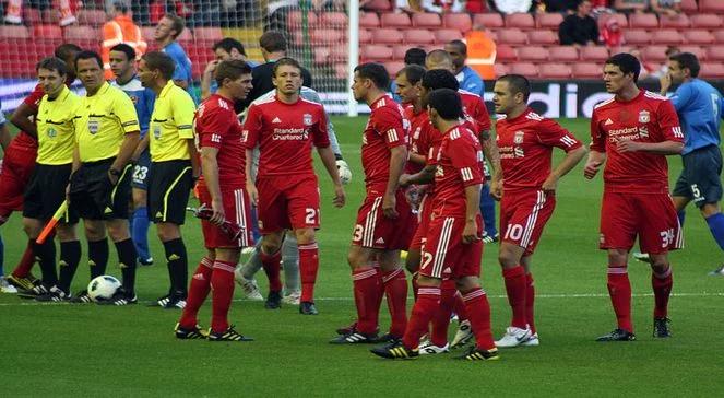
[[[194,114],[191,95],[169,80],[156,97],[151,115],[151,161],[191,159],[188,140],[193,139]]]

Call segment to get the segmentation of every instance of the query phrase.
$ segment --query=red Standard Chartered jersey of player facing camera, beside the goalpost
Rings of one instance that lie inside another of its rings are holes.
[[[244,122],[246,148],[259,145],[259,176],[313,174],[311,147],[327,148],[327,116],[321,104],[276,96],[252,103]]]

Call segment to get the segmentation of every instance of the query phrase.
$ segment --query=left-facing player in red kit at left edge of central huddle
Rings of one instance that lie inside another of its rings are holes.
[[[392,313],[390,332],[383,339],[400,339],[407,324],[407,280],[399,261],[400,250],[410,245],[415,218],[399,179],[407,160],[410,121],[404,118],[402,107],[388,95],[389,84],[390,75],[381,63],[355,68],[352,91],[357,101],[364,101],[371,109],[361,147],[367,196],[357,211],[347,254],[357,323],[352,330],[332,339],[330,343],[334,344],[379,341],[378,317],[383,294],[388,295]]]

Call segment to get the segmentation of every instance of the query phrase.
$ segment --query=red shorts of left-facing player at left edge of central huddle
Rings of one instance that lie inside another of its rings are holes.
[[[417,227],[417,219],[402,189],[395,195],[397,218],[382,212],[382,196],[367,196],[357,211],[352,244],[382,250],[406,250]]]

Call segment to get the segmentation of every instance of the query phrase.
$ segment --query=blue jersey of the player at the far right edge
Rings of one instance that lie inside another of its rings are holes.
[[[722,95],[703,80],[692,79],[681,84],[672,103],[684,128],[684,151],[719,147],[719,127],[722,118]]]

